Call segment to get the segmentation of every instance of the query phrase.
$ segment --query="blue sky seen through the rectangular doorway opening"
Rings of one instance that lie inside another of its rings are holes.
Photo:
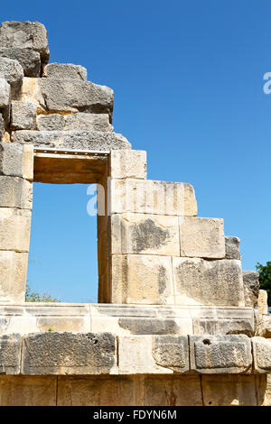
[[[98,301],[97,217],[86,184],[33,183],[27,280],[61,302]]]

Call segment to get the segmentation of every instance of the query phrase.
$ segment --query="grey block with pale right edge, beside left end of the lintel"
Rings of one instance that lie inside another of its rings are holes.
[[[33,146],[0,143],[0,175],[33,181]]]

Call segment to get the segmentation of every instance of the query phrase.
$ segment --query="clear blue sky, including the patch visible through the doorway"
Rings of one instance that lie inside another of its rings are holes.
[[[148,153],[148,178],[191,182],[199,216],[241,238],[243,268],[271,260],[271,4],[103,0],[1,5],[44,23],[51,61],[85,66],[115,90],[114,125]],[[29,281],[96,301],[96,218],[85,186],[34,188]]]

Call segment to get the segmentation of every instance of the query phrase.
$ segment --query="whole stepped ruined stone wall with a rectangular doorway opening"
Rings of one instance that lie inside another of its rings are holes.
[[[223,219],[146,179],[113,91],[0,27],[0,405],[270,405],[271,319]],[[98,184],[98,304],[26,303],[33,181]],[[48,331],[52,328],[53,331]]]

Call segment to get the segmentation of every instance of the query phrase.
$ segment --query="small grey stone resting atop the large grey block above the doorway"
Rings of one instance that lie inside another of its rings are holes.
[[[43,69],[44,78],[64,78],[87,80],[87,69],[72,63],[49,63]]]

